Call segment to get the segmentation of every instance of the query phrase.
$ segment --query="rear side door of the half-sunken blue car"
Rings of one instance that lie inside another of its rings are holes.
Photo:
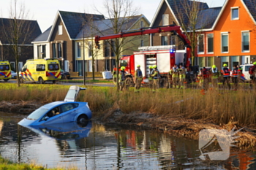
[[[78,114],[78,104],[75,104],[75,103],[62,104],[60,108],[61,108],[64,123],[75,121],[75,116]]]

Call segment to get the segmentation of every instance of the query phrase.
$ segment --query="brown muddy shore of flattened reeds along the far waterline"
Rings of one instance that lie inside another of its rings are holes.
[[[1,101],[0,111],[29,115],[34,109],[42,105],[44,103],[34,101]],[[184,119],[183,117],[167,117],[138,112],[124,114],[120,109],[115,107],[108,109],[104,114],[94,113],[92,120],[105,125],[129,125],[132,128],[154,129],[189,139],[198,139],[198,134],[202,129],[226,129],[227,131],[231,131],[235,127],[235,131],[237,131],[243,128],[237,134],[240,137],[236,139],[238,141],[236,146],[243,150],[256,150],[256,128],[241,127],[232,121],[225,125],[217,125],[212,123],[211,120],[192,120]]]

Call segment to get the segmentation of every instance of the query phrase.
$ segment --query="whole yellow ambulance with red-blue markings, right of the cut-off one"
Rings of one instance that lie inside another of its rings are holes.
[[[39,82],[43,84],[61,80],[59,60],[54,58],[27,60],[19,74],[20,83]]]

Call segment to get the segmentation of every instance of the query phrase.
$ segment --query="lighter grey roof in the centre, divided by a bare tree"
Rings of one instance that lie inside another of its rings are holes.
[[[132,17],[119,18],[118,19],[118,32],[126,31],[143,15],[136,15]],[[83,29],[80,31],[76,39],[82,39],[84,37],[94,37],[96,35],[110,35],[114,34],[113,19],[96,20],[92,23],[86,23]],[[84,32],[83,32],[84,31]]]

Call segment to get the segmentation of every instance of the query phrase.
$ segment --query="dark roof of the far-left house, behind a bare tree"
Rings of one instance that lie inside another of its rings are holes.
[[[14,19],[0,18],[0,40],[3,44],[12,44]],[[31,45],[33,39],[42,34],[37,20],[19,20],[17,19],[18,30],[20,30],[20,39],[18,44]],[[4,31],[5,30],[5,31]],[[4,32],[6,34],[4,34]]]

